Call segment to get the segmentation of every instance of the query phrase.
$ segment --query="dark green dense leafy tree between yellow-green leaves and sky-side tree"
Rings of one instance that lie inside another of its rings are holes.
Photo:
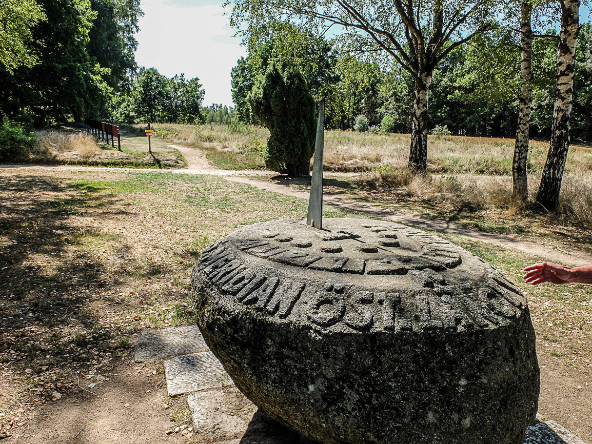
[[[110,101],[108,68],[89,56],[86,46],[96,18],[89,0],[38,0],[47,16],[32,28],[30,51],[38,63],[7,78],[0,72],[0,107],[8,115],[25,112],[37,125],[89,115]],[[91,116],[94,117],[94,116]]]

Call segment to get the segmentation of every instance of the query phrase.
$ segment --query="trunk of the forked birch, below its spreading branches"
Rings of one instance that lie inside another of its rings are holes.
[[[413,114],[411,115],[411,149],[409,169],[416,173],[427,170],[427,102],[432,73],[420,73],[415,82]]]

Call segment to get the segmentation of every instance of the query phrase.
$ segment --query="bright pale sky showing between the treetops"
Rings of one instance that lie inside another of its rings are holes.
[[[229,17],[223,15],[223,0],[142,0],[144,17],[136,62],[155,67],[172,77],[200,78],[205,89],[203,104],[233,105],[230,70],[246,49],[233,37]],[[580,21],[590,20],[590,9],[581,7]]]

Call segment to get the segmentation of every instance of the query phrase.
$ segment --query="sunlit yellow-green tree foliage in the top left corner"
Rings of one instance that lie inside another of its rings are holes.
[[[32,28],[46,15],[34,0],[0,0],[0,66],[9,73],[38,62],[31,52]]]

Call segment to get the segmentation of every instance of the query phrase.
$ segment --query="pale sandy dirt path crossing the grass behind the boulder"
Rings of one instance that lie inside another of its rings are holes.
[[[165,173],[179,174],[205,174],[221,176],[226,180],[240,182],[256,186],[267,191],[274,191],[284,195],[308,199],[308,191],[289,186],[279,182],[270,182],[264,178],[275,175],[275,172],[269,170],[224,170],[216,168],[208,162],[205,152],[200,149],[193,149],[179,145],[170,144],[170,147],[177,149],[187,160],[188,168],[183,169],[165,169],[154,170]],[[29,165],[0,165],[0,168],[18,168],[23,170],[38,168],[56,168],[71,170],[105,170],[103,167],[83,167],[83,166],[29,166]],[[117,168],[116,170],[128,170],[137,172],[135,168]],[[327,177],[350,177],[356,173],[325,173]],[[543,243],[533,240],[520,239],[517,236],[508,234],[482,233],[481,231],[467,230],[459,224],[438,217],[430,217],[422,214],[411,213],[410,211],[393,210],[388,205],[376,204],[361,198],[342,197],[339,195],[324,194],[323,202],[343,210],[358,211],[359,213],[371,215],[372,217],[385,218],[394,222],[407,224],[422,229],[433,230],[437,233],[455,234],[469,240],[488,242],[497,246],[518,250],[526,254],[542,256],[552,261],[560,261],[573,266],[592,263],[592,254],[583,250],[573,249],[565,250],[549,243]]]

